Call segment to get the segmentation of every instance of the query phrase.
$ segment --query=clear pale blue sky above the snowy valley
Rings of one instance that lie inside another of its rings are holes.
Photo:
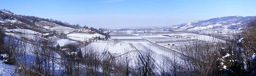
[[[224,16],[256,16],[256,0],[2,0],[0,9],[80,26],[170,26]]]

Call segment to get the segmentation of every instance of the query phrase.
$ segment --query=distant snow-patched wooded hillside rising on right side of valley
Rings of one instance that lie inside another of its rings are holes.
[[[179,25],[163,27],[161,29],[168,30],[212,30],[212,29],[230,29],[241,30],[243,25],[256,19],[256,16],[227,16],[220,18],[212,18],[204,21],[188,22]]]

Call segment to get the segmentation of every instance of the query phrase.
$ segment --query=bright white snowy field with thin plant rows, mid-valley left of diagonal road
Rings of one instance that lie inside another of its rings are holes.
[[[166,50],[159,48],[154,43],[150,43],[148,41],[130,41],[130,42],[92,42],[89,46],[97,47],[101,51],[109,51],[115,54],[124,54],[128,51],[138,50],[147,50],[150,49],[154,51],[156,54],[166,54]]]

